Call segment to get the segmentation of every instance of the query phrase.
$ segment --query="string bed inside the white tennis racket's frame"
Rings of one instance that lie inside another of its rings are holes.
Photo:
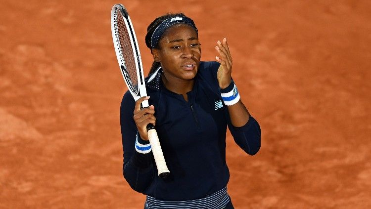
[[[117,47],[119,47],[121,52],[120,58],[123,65],[121,66],[121,70],[131,90],[138,93],[138,76],[135,62],[136,54],[133,51],[130,40],[131,32],[128,31],[124,18],[118,9],[116,10],[115,17],[116,38],[119,43]]]

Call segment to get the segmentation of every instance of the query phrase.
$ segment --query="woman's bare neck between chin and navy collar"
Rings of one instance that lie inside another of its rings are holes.
[[[174,76],[165,74],[166,73],[163,72],[163,74],[161,75],[161,80],[165,87],[174,93],[183,94],[185,100],[187,100],[187,92],[192,90],[194,79],[182,80],[179,78],[175,78]]]

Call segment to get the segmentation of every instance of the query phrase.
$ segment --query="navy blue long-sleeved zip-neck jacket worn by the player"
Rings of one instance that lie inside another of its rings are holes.
[[[135,100],[129,91],[125,93],[120,116],[123,172],[134,190],[160,200],[183,201],[204,198],[224,188],[230,177],[226,165],[227,125],[246,153],[258,152],[261,130],[257,121],[250,116],[246,125],[234,127],[227,106],[220,104],[219,65],[200,63],[193,89],[187,93],[188,101],[163,86],[161,70],[146,84],[149,104],[155,107],[155,128],[171,172],[166,179],[157,176],[152,152],[141,154],[135,150]],[[139,138],[139,143],[148,142]]]

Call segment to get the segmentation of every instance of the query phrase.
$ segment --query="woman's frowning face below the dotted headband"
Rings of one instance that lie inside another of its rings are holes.
[[[152,49],[155,61],[161,62],[166,76],[181,80],[193,79],[198,71],[201,47],[196,31],[187,24],[176,24],[166,30]]]

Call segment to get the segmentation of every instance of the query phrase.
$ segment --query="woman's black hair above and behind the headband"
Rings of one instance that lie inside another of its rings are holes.
[[[160,25],[164,20],[166,20],[168,18],[172,18],[172,17],[187,17],[187,16],[185,16],[185,14],[183,14],[183,13],[168,13],[168,14],[162,15],[162,16],[157,17],[156,19],[154,19],[153,22],[151,22],[151,24],[149,24],[149,26],[147,28],[147,35],[145,35],[145,44],[147,45],[147,47],[149,49],[152,49],[151,37],[152,37],[152,34],[155,31],[155,29],[157,28],[157,26]],[[156,48],[157,47],[158,46],[156,46]],[[151,53],[152,53],[152,51],[151,51]],[[149,70],[149,75],[152,74],[160,66],[161,66],[160,62],[153,61],[152,67]]]

